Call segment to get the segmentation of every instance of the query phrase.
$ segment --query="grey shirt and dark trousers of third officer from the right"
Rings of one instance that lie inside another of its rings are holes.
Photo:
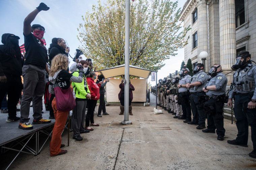
[[[203,109],[202,103],[198,102],[198,99],[204,96],[203,87],[206,85],[207,74],[200,70],[191,78],[190,83],[200,81],[202,84],[200,86],[191,86],[189,89],[190,95],[190,104],[193,114],[192,122],[188,124],[199,124],[205,126],[205,111]]]

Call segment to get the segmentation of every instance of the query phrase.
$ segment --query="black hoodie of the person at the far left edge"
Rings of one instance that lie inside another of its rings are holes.
[[[5,44],[12,34],[3,34],[2,43]],[[4,50],[5,45],[0,45],[0,76],[4,75],[22,75],[24,57],[10,56]]]

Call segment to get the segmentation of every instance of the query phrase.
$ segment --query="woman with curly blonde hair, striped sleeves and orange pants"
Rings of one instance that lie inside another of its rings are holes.
[[[53,86],[58,86],[61,89],[68,89],[70,87],[70,81],[77,83],[81,83],[83,81],[84,67],[81,66],[78,68],[79,76],[76,77],[66,71],[68,64],[69,61],[66,55],[58,54],[53,58],[49,74],[49,81],[51,82],[49,85],[49,92],[51,94],[54,94]],[[61,150],[60,148],[65,146],[61,144],[61,133],[67,121],[68,111],[57,110],[56,98],[53,99],[52,107],[54,110],[55,124],[50,143],[50,156],[56,156],[67,153],[67,150]]]

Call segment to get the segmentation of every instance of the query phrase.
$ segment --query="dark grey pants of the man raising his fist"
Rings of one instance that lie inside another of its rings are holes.
[[[35,65],[24,65],[22,68],[23,94],[21,100],[21,123],[28,122],[30,103],[33,102],[33,118],[42,119],[41,106],[45,90],[45,69]]]

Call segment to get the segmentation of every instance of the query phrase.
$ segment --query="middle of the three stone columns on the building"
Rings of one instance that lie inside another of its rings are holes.
[[[220,64],[219,0],[208,0],[210,65]]]

